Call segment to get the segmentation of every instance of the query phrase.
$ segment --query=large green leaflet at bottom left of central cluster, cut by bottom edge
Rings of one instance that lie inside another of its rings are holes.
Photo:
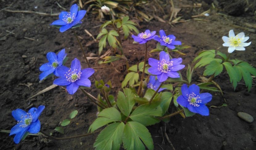
[[[93,147],[95,150],[118,150],[122,144],[125,124],[123,122],[109,124],[98,135]]]

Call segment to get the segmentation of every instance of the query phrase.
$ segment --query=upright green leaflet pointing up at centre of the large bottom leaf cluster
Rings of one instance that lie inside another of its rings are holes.
[[[125,115],[129,116],[132,108],[135,104],[134,102],[134,93],[132,93],[131,89],[125,88],[125,93],[122,93],[121,91],[118,92],[117,96],[117,105],[120,111]]]

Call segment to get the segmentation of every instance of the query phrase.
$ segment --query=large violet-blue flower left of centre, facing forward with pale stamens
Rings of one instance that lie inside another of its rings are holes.
[[[55,79],[53,84],[67,86],[68,93],[74,94],[79,86],[91,86],[91,81],[88,78],[94,73],[94,69],[86,68],[81,70],[80,61],[75,58],[71,62],[70,69],[66,66],[59,66],[56,72],[60,78]]]

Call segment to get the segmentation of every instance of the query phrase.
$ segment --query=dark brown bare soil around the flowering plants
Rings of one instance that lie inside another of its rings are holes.
[[[256,65],[255,32],[249,32],[246,29],[233,26],[248,27],[245,26],[245,23],[255,23],[255,10],[252,8],[255,4],[249,1],[250,7],[248,7],[247,11],[240,13],[240,16],[230,16],[237,14],[230,14],[231,10],[225,11],[224,7],[227,4],[214,0],[218,12],[220,11],[225,15],[217,14],[217,11],[212,10],[209,17],[200,17],[200,19],[204,20],[198,21],[192,19],[191,16],[209,9],[213,1],[205,0],[201,2],[197,0],[197,2],[203,4],[202,7],[183,7],[184,5],[193,5],[194,2],[196,0],[174,0],[175,7],[182,8],[178,15],[191,19],[190,21],[175,24],[174,27],[156,20],[140,22],[141,29],[139,30],[142,32],[145,29],[156,31],[163,29],[167,34],[174,34],[176,39],[182,41],[185,45],[191,46],[189,49],[181,50],[181,52],[186,53],[186,56],[171,53],[173,57],[182,57],[183,64],[186,66],[191,64],[194,57],[202,50],[218,49],[223,53],[227,53],[227,47],[222,47],[223,41],[221,37],[228,35],[229,30],[234,29],[236,34],[245,32],[246,36],[250,36],[249,41],[252,41],[252,44],[246,47],[246,51],[233,52],[231,57]],[[2,0],[0,9],[9,6],[11,3]],[[67,9],[72,4],[67,0],[59,1],[59,3]],[[38,8],[35,9],[35,6]],[[232,8],[234,9],[234,7]],[[54,0],[20,0],[15,1],[9,9],[33,10],[46,13],[50,13],[51,10],[53,13],[63,11]],[[87,67],[72,30],[60,33],[58,29],[49,26],[57,18],[57,16],[10,13],[0,10],[0,129],[10,130],[16,124],[11,115],[12,110],[20,108],[27,111],[30,109],[28,106],[31,104],[33,104],[32,107],[45,105],[45,109],[39,118],[41,129],[46,132],[52,132],[53,136],[56,137],[86,133],[89,125],[96,119],[97,107],[90,103],[81,91],[76,92],[74,95],[69,95],[64,88],[56,87],[38,97],[27,100],[35,93],[52,85],[52,81],[55,78],[51,77],[39,83],[39,67],[47,61],[47,52],[58,52],[65,48],[69,57],[67,66],[70,65],[74,57],[77,57],[82,61],[83,67]],[[84,29],[87,29],[96,37],[99,33],[99,27],[96,26],[100,25],[101,22],[95,20],[95,16],[90,12],[87,13],[82,21],[82,26],[76,28],[77,34],[83,38],[81,41],[84,47],[87,46],[86,53],[88,55],[97,53],[97,43],[93,42],[93,39],[84,32]],[[9,34],[6,30],[12,31],[14,34]],[[24,37],[34,38],[35,41]],[[144,59],[144,45],[132,44],[132,42],[131,38],[123,40],[124,52],[129,59],[130,65],[137,64]],[[154,49],[156,42],[151,41],[148,46],[148,49]],[[27,57],[22,57],[22,55]],[[149,57],[157,58],[158,53],[149,53]],[[116,95],[117,91],[121,90],[121,82],[126,73],[125,63],[123,61],[113,63],[120,73],[111,64],[98,65],[97,61],[94,60],[90,60],[90,63],[95,67],[95,75],[98,79],[112,81],[112,94]],[[102,66],[105,67],[102,68]],[[196,69],[192,83],[198,83],[197,79],[202,72],[203,69]],[[182,70],[184,77],[185,74],[186,68]],[[93,78],[91,80],[94,83]],[[164,124],[162,122],[150,126],[149,130],[153,136],[155,149],[172,149],[164,136],[165,131],[176,150],[253,150],[256,148],[256,122],[249,124],[237,116],[237,112],[242,111],[256,118],[255,86],[252,87],[250,92],[247,92],[244,82],[241,82],[234,91],[225,72],[216,77],[214,81],[221,86],[225,93],[221,95],[221,93],[210,92],[213,94],[213,100],[207,106],[221,106],[223,103],[228,106],[210,108],[209,116],[195,115],[183,119],[180,115],[177,115],[172,117],[169,123]],[[93,84],[88,91],[94,96],[98,94]],[[59,126],[60,121],[68,118],[69,113],[75,109],[79,113],[73,119],[71,125],[64,127],[65,134],[62,135],[54,131],[54,128]],[[172,105],[169,112],[173,111],[175,109]],[[9,136],[8,133],[1,132],[0,149],[93,149],[97,134],[70,140],[51,140],[43,136],[27,136],[26,140],[20,144],[15,144],[13,137]]]

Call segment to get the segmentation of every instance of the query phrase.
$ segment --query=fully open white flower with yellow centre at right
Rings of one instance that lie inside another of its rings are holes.
[[[223,36],[222,40],[225,42],[223,46],[229,47],[228,52],[232,53],[234,50],[245,50],[245,46],[249,46],[251,42],[245,43],[249,37],[245,37],[243,32],[235,35],[233,30],[229,31],[229,37]]]

